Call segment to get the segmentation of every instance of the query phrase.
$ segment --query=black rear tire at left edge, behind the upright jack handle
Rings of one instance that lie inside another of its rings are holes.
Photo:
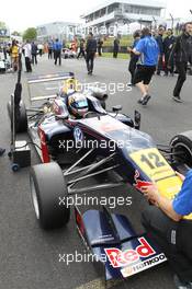
[[[11,102],[8,103],[8,113],[9,113],[9,117],[12,122]],[[26,132],[27,131],[27,116],[26,116],[25,104],[23,101],[20,102],[18,119],[19,120],[16,120],[16,123],[15,123],[15,132]]]

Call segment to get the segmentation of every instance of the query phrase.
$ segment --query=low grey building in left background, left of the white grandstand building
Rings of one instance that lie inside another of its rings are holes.
[[[79,24],[71,22],[52,22],[44,25],[38,25],[37,41],[47,42],[58,38],[59,41],[71,41],[79,32]]]

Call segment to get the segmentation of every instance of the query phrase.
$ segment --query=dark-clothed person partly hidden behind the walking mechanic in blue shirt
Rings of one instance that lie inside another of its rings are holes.
[[[128,65],[128,71],[131,72],[131,83],[128,84],[128,86],[134,86],[134,76],[135,76],[135,70],[136,70],[136,65],[137,65],[137,61],[139,59],[139,56],[138,55],[135,55],[132,49],[134,49],[138,43],[138,41],[140,39],[140,32],[139,31],[136,31],[133,35],[134,37],[134,43],[132,45],[132,47],[128,47],[127,50],[128,53],[131,53],[131,60],[129,60],[129,65]]]

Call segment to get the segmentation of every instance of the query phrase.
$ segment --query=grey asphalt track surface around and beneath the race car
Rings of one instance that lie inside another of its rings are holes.
[[[47,56],[39,59],[34,68],[35,74],[58,71],[74,71],[82,82],[99,81],[102,83],[127,83],[126,60],[97,59],[92,77],[87,76],[84,61],[63,60],[61,67],[55,67]],[[23,72],[23,99],[29,103],[26,92],[27,73]],[[9,151],[10,123],[7,115],[7,102],[14,90],[15,74],[0,76],[0,146]],[[122,104],[123,112],[133,116],[134,109],[142,113],[142,130],[150,134],[157,143],[169,143],[172,136],[180,131],[191,129],[192,124],[192,82],[191,78],[182,90],[183,104],[171,100],[171,92],[176,77],[154,77],[151,84],[153,99],[147,107],[137,104],[139,93],[137,89],[132,92],[116,92],[111,94],[108,108]],[[26,136],[20,136],[25,139]],[[32,148],[32,162],[39,160]],[[88,289],[103,288],[99,276],[90,263],[72,263],[66,266],[59,262],[59,254],[86,253],[84,246],[76,231],[74,218],[66,229],[44,232],[35,220],[31,205],[29,169],[13,173],[10,169],[7,154],[0,159],[0,289]],[[102,192],[106,196],[133,197],[131,207],[118,207],[113,211],[125,213],[140,231],[140,211],[148,206],[144,198],[126,186],[121,189]],[[111,285],[112,286],[112,285]],[[172,273],[168,265],[155,267],[114,285],[113,288],[129,289],[173,289]]]

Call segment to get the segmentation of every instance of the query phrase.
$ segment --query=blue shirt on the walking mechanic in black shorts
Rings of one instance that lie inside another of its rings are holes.
[[[144,66],[157,66],[159,46],[151,36],[145,36],[137,43],[135,49],[142,54],[140,60]]]

